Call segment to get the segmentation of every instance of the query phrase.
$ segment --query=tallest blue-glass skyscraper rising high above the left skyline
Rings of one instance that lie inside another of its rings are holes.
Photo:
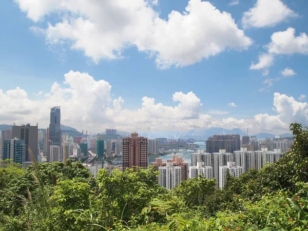
[[[59,106],[52,107],[50,110],[50,124],[49,124],[49,140],[53,142],[53,145],[62,147],[62,133],[61,133],[61,109]],[[60,150],[60,160],[62,151]],[[50,155],[49,155],[50,156]]]

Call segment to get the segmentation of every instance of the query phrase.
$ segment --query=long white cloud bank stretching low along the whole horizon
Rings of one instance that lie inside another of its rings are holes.
[[[178,104],[174,107],[143,97],[139,109],[125,109],[124,99],[111,97],[108,82],[95,81],[88,73],[78,71],[66,73],[63,83],[53,83],[50,91],[43,96],[30,100],[27,92],[20,87],[5,92],[0,89],[0,124],[38,122],[40,128],[47,127],[50,108],[53,106],[61,106],[63,124],[92,132],[102,132],[106,127],[136,131],[147,130],[149,126],[153,131],[187,131],[216,126],[279,134],[287,132],[290,123],[305,123],[308,118],[307,103],[300,103],[280,93],[274,94],[272,113],[276,114],[257,114],[251,119],[219,119],[209,115],[226,114],[220,110],[201,113],[201,100],[193,92],[175,92],[172,100]]]

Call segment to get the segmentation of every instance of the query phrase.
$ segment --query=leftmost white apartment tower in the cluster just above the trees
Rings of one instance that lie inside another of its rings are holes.
[[[159,185],[167,189],[177,187],[182,181],[181,171],[181,167],[174,166],[172,162],[167,162],[165,167],[159,167]]]

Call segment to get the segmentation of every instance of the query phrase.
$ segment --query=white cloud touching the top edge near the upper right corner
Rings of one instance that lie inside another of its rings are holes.
[[[293,10],[281,0],[257,0],[253,8],[244,13],[242,23],[247,27],[274,27],[290,17],[296,17]]]

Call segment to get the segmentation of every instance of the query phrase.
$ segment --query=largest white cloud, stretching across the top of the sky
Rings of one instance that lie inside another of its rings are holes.
[[[181,14],[172,11],[168,21],[152,5],[157,1],[113,0],[15,0],[34,22],[56,16],[45,31],[48,45],[69,45],[82,50],[93,62],[120,59],[125,48],[155,57],[158,68],[187,66],[229,50],[244,50],[251,38],[240,30],[232,16],[209,2],[190,0]]]

